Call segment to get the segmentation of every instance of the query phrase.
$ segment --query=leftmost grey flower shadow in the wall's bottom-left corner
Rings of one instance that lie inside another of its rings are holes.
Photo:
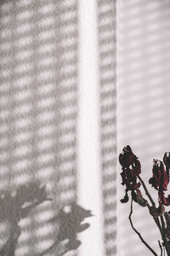
[[[48,200],[51,199],[47,196],[45,186],[38,182],[21,185],[14,192],[0,192],[0,222],[8,226],[8,239],[0,249],[0,255],[14,256],[20,236],[20,219],[26,218],[32,208]]]

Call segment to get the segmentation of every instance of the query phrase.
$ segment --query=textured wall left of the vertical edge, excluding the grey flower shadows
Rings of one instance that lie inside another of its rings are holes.
[[[116,1],[3,0],[0,59],[0,189],[38,180],[53,198],[15,254],[49,247],[48,219],[78,200],[95,215],[79,254],[116,255]]]

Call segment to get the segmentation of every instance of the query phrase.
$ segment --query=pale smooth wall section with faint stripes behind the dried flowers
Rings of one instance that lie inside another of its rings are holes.
[[[118,147],[132,146],[148,183],[152,160],[162,160],[170,148],[170,2],[119,1],[117,15]],[[120,205],[120,255],[150,255],[128,224],[129,207]],[[159,254],[148,212],[135,207],[133,223]]]

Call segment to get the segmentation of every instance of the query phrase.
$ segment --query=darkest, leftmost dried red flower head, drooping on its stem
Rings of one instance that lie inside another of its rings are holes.
[[[119,162],[122,166],[122,185],[126,185],[125,196],[122,202],[128,201],[127,192],[132,191],[132,196],[134,195],[134,190],[139,189],[140,183],[137,183],[137,177],[141,172],[140,162],[138,157],[133,154],[130,146],[122,149],[122,154],[119,155]]]

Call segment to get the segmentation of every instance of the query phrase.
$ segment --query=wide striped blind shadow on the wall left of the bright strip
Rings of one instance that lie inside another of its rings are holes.
[[[0,24],[0,189],[39,180],[54,199],[20,223],[16,255],[34,256],[77,199],[77,1],[3,1]]]

